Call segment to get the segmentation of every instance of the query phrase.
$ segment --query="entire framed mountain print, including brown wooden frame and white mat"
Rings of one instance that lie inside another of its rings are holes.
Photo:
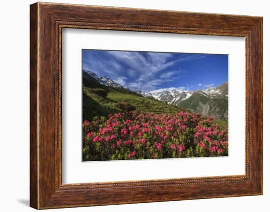
[[[30,5],[30,206],[263,194],[262,23]]]

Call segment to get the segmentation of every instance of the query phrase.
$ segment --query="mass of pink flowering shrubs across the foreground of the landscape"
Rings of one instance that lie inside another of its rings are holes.
[[[228,155],[228,132],[214,117],[127,111],[83,122],[83,161]]]

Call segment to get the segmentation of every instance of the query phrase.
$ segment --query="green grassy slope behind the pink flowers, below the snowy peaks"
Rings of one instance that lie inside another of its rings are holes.
[[[176,113],[180,110],[175,106],[139,95],[109,90],[107,97],[103,97],[94,93],[91,88],[83,87],[83,120],[91,120],[95,116],[107,117],[108,114],[121,112],[122,110],[117,107],[118,102],[129,102],[136,110],[147,113]]]

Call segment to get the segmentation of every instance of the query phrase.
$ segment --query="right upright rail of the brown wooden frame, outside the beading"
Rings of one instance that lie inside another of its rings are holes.
[[[263,18],[251,30],[251,179],[257,195],[263,195]],[[256,142],[255,142],[256,141]],[[254,151],[256,150],[256,151]]]

